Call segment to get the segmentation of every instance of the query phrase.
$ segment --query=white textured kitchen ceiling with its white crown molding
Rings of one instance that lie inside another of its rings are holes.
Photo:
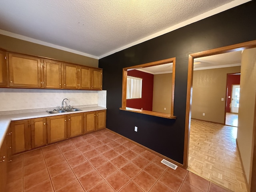
[[[250,0],[1,0],[0,34],[102,58]]]

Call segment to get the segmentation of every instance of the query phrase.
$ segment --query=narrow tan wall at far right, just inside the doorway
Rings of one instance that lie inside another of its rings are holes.
[[[237,143],[247,182],[251,178],[254,106],[256,96],[256,48],[244,50],[241,61]]]

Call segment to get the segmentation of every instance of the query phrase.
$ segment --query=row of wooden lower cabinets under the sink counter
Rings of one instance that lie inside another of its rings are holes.
[[[104,128],[106,110],[12,121],[6,135],[7,153],[10,156]]]

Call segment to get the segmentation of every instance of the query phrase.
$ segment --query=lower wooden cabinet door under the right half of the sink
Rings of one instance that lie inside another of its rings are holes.
[[[84,133],[84,114],[76,113],[68,115],[68,138]]]

